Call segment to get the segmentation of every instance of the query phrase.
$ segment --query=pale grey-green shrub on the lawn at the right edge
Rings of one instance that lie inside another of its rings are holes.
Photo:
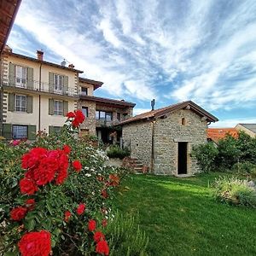
[[[213,191],[218,201],[256,208],[256,189],[253,182],[235,177],[219,177],[213,183]]]

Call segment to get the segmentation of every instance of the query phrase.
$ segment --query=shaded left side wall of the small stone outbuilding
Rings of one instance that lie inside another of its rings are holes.
[[[131,123],[123,126],[123,142],[131,142],[131,157],[137,157],[144,165],[150,166],[152,123],[150,121]]]

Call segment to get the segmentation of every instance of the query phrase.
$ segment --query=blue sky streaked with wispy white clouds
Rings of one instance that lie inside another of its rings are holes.
[[[192,100],[213,126],[256,123],[255,0],[23,0],[8,44],[67,59],[135,113]]]

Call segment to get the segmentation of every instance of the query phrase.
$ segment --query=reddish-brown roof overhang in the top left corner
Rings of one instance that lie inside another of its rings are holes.
[[[21,0],[0,0],[0,54],[15,22]]]

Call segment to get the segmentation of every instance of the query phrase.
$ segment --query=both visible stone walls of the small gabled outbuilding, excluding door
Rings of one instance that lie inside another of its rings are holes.
[[[182,124],[183,119],[183,124]],[[150,166],[152,125],[150,121],[123,126],[123,140],[131,140],[131,156]],[[177,175],[177,144],[188,143],[188,175],[200,172],[195,158],[190,156],[193,145],[207,143],[207,121],[191,110],[167,113],[165,119],[154,122],[155,174]]]

